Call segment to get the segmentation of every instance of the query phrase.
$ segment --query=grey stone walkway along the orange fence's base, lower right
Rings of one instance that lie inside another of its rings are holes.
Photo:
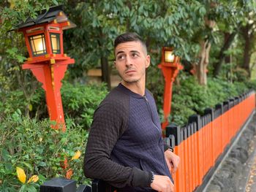
[[[244,149],[246,149],[245,153]],[[256,192],[256,114],[247,122],[203,190],[203,192],[234,191]]]

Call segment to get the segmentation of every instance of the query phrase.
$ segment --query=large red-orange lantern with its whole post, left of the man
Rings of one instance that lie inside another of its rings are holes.
[[[61,102],[61,80],[68,64],[75,60],[64,54],[63,30],[73,28],[64,14],[61,6],[50,7],[38,15],[37,20],[28,18],[18,26],[23,32],[29,58],[22,65],[23,69],[30,69],[45,90],[46,103],[50,120],[56,121],[53,128],[66,130],[64,113]]]

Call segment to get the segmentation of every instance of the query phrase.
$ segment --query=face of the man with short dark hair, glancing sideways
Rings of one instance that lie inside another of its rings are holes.
[[[124,82],[145,81],[150,56],[146,55],[146,50],[140,42],[124,42],[117,45],[115,56],[116,69]]]

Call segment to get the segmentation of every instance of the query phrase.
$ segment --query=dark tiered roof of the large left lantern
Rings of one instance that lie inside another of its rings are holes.
[[[67,15],[64,14],[62,5],[50,7],[48,10],[43,9],[39,12],[36,19],[27,18],[25,22],[18,24],[17,28],[26,28],[30,26],[35,26],[42,23],[50,23],[53,20],[56,20],[56,23],[64,23],[69,22],[69,26],[64,26],[63,29],[74,28],[76,25],[72,23],[68,18]]]

